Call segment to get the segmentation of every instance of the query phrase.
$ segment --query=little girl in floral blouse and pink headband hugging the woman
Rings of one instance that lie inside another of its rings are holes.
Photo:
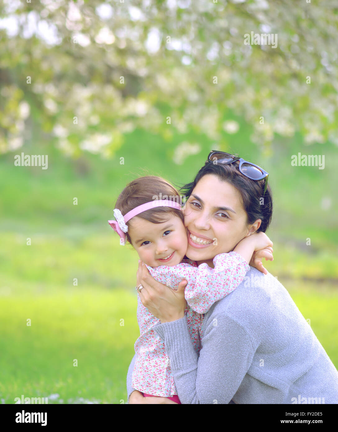
[[[108,223],[120,235],[121,245],[127,238],[154,279],[172,289],[182,279],[187,280],[185,314],[190,337],[199,353],[203,314],[243,281],[254,251],[271,246],[272,242],[264,233],[255,233],[240,241],[234,251],[216,255],[214,268],[206,263],[197,266],[185,257],[188,239],[179,202],[182,201],[178,191],[163,178],[137,178],[117,199],[114,210],[117,220]],[[217,238],[211,241],[191,237],[201,245],[217,242]],[[262,266],[258,267],[263,271]],[[152,330],[160,320],[142,305],[139,296],[137,320],[140,337],[134,346],[133,388],[144,396],[163,396],[180,403],[164,343]]]

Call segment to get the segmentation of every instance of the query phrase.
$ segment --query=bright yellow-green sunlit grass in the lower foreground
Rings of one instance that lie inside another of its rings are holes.
[[[48,403],[126,403],[126,371],[139,335],[134,291],[27,288],[24,295],[2,293],[1,400],[14,403],[24,394],[52,396]],[[290,292],[337,367],[337,293],[309,286]]]

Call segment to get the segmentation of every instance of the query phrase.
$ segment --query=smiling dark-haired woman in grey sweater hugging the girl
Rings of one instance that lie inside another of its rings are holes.
[[[198,265],[213,267],[215,255],[269,226],[271,191],[266,172],[260,168],[255,177],[258,168],[210,153],[194,181],[183,187],[186,256]],[[217,241],[200,245],[191,235]],[[338,403],[335,366],[271,274],[250,267],[243,283],[212,306],[204,316],[199,356],[184,316],[184,284],[175,292],[141,264],[137,284],[143,286],[143,305],[161,320],[153,329],[164,341],[181,403]],[[127,375],[129,403],[173,403],[132,389],[133,364],[134,359]]]

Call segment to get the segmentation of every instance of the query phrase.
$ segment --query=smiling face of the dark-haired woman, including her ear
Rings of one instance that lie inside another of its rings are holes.
[[[186,256],[198,265],[205,262],[213,267],[216,255],[232,251],[240,240],[259,228],[260,222],[247,225],[240,192],[216,175],[206,174],[186,201],[184,225],[188,230]]]

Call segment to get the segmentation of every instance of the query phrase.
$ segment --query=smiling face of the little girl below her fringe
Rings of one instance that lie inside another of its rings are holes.
[[[169,213],[166,222],[152,223],[138,216],[130,220],[128,232],[140,259],[150,267],[174,266],[186,254],[188,239],[182,220]],[[161,258],[167,258],[161,260]]]

